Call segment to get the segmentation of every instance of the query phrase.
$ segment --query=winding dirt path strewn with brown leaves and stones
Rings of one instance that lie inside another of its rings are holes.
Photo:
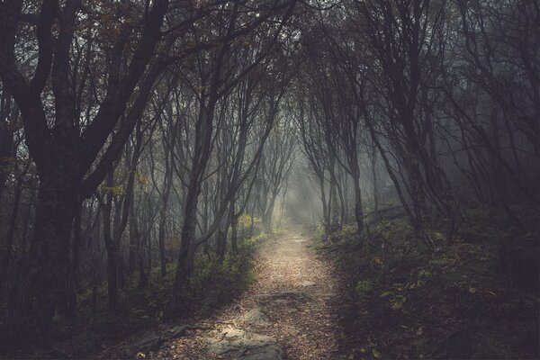
[[[338,276],[302,236],[267,239],[256,283],[201,329],[166,342],[151,357],[279,360],[338,358]],[[284,354],[286,354],[286,357]]]

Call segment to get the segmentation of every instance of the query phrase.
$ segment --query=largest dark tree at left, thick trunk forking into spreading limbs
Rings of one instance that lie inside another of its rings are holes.
[[[106,90],[92,120],[77,113],[88,80],[81,76],[74,82],[86,68],[73,67],[70,57],[74,44],[84,39],[83,23],[97,29],[99,25],[92,18],[99,14],[87,12],[76,0],[62,4],[44,0],[35,8],[37,14],[23,13],[23,8],[26,11],[23,5],[23,1],[0,4],[0,78],[21,109],[26,145],[40,176],[30,271],[23,285],[27,304],[23,306],[22,326],[35,331],[46,327],[58,304],[66,302],[61,298],[67,282],[74,213],[110,172],[138,114],[132,113],[122,121],[110,141],[109,136],[134,99],[135,87],[139,85],[140,90],[131,107],[133,112],[137,112],[137,103],[139,108],[143,107],[141,103],[148,98],[148,87],[157,77],[160,64],[156,62],[148,67],[148,63],[161,39],[168,1],[153,2],[141,17],[120,14],[121,19],[112,25],[118,35],[111,47],[106,41],[102,44],[112,59],[107,68]],[[103,13],[110,10],[106,6]],[[139,19],[143,30],[133,55],[125,58],[122,55],[127,54],[124,51],[127,41],[136,36],[137,27],[133,23]],[[38,46],[38,60],[30,80],[18,66],[20,31],[27,26],[35,29],[35,35],[29,37]],[[89,39],[86,46],[91,46]],[[122,61],[128,61],[127,67],[122,67]],[[52,97],[54,109],[43,102],[45,95]],[[94,164],[103,148],[103,157]]]

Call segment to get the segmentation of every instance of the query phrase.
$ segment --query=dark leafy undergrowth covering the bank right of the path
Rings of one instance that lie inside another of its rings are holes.
[[[432,226],[433,252],[414,241],[404,217],[370,224],[369,236],[347,226],[321,239],[320,252],[347,282],[346,358],[538,358],[538,293],[501,268],[508,231],[493,219],[469,211],[451,245]]]

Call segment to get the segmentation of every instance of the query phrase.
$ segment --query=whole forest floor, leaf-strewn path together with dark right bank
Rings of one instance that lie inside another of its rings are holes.
[[[138,326],[117,318],[97,326],[98,333],[74,336],[68,347],[18,357],[539,358],[537,230],[504,235],[487,222],[491,216],[471,214],[453,244],[429,229],[436,247],[428,252],[421,243],[410,247],[414,242],[404,218],[388,218],[364,239],[354,226],[329,237],[317,231],[311,237],[261,236],[249,256],[232,266],[246,267],[242,276],[227,282],[229,273],[205,268],[215,275],[201,283],[206,293],[175,320]],[[531,219],[537,223],[536,215]],[[501,248],[509,267],[500,265]],[[236,288],[244,278],[250,280]],[[167,293],[148,292],[152,299]],[[210,295],[220,301],[204,302]],[[90,335],[93,341],[86,341]],[[81,346],[85,342],[88,350]]]

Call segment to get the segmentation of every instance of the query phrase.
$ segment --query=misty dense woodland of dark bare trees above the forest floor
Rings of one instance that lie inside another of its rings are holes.
[[[534,343],[539,157],[537,0],[3,1],[0,338],[184,316],[296,224],[368,262],[499,227]]]

